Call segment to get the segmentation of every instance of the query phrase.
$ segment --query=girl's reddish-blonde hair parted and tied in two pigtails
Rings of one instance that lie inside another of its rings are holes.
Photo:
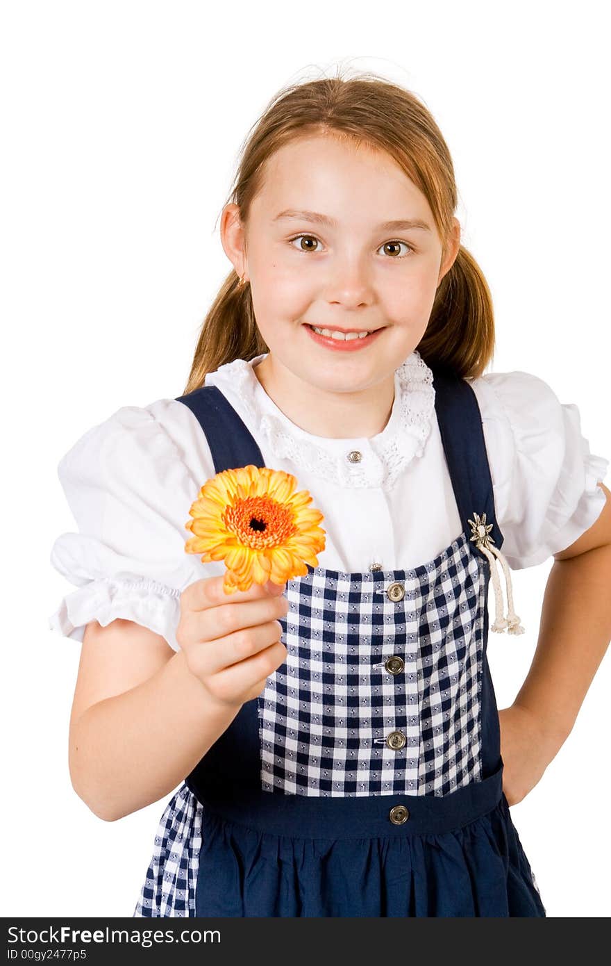
[[[409,91],[371,72],[298,82],[269,101],[242,148],[229,201],[244,225],[263,185],[265,162],[293,139],[328,133],[365,143],[391,156],[427,198],[439,238],[447,239],[457,207],[448,146],[430,111]],[[231,270],[201,328],[184,392],[236,358],[269,351],[253,311],[250,286]],[[481,376],[494,351],[492,298],[473,256],[460,245],[442,278],[427,330],[416,346],[430,366],[461,378]]]

